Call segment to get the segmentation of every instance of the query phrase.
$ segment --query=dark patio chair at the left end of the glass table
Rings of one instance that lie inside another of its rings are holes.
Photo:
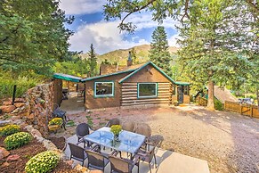
[[[85,148],[85,143],[87,144],[87,147],[90,147],[89,141],[84,140],[84,136],[89,135],[91,127],[86,124],[86,123],[81,123],[77,125],[76,128],[76,134],[77,134],[77,143],[84,143],[84,148]]]

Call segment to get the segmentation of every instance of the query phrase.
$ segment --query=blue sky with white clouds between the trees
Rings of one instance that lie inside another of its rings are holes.
[[[126,21],[133,22],[137,28],[134,34],[121,33],[117,29],[119,20],[105,21],[102,5],[105,0],[61,0],[60,8],[66,15],[75,17],[68,29],[75,33],[69,38],[71,51],[88,52],[93,44],[97,54],[105,54],[117,49],[127,49],[135,45],[150,44],[152,32],[158,27],[158,22],[151,21],[150,12],[137,12],[130,15]],[[166,19],[162,26],[166,29],[168,44],[176,45],[177,30],[173,19]]]

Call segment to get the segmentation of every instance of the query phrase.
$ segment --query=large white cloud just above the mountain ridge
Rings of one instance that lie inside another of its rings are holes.
[[[93,43],[97,54],[104,54],[116,49],[126,49],[135,45],[149,44],[145,39],[139,39],[134,42],[123,39],[123,34],[117,29],[118,21],[101,21],[94,24],[85,24],[77,29],[74,36],[70,37],[70,50],[84,51],[89,50],[90,44]]]

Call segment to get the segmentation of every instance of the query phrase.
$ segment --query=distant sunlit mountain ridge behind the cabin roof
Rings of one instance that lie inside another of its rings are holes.
[[[148,62],[149,61],[149,51],[150,45],[137,45],[129,49],[118,49],[115,51],[111,51],[106,54],[97,55],[98,63],[104,62],[105,59],[108,62],[119,62],[120,65],[125,65],[128,57],[128,52],[132,51],[136,53],[137,61],[139,63]],[[175,54],[179,48],[170,46],[169,52],[170,54]],[[87,54],[82,54],[82,58],[87,57]]]

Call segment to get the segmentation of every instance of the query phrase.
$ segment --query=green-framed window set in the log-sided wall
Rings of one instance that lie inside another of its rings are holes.
[[[157,83],[139,83],[138,84],[138,97],[149,98],[157,97]]]

